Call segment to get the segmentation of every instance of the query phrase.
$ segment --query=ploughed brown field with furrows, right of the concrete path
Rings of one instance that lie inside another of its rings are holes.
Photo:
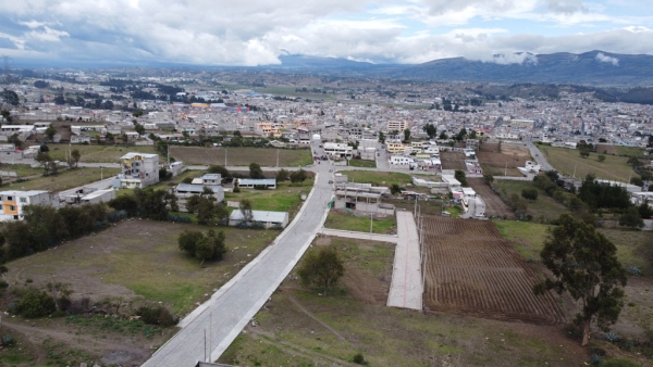
[[[484,318],[558,324],[553,294],[537,296],[535,273],[491,222],[426,217],[424,306]]]

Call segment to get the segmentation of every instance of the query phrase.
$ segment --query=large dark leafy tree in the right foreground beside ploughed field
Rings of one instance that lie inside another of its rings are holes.
[[[540,255],[553,279],[545,276],[533,291],[535,294],[567,291],[575,301],[580,300],[582,311],[575,324],[582,328],[581,345],[588,344],[593,321],[602,330],[608,330],[617,321],[628,276],[617,260],[617,248],[603,233],[563,214],[558,226],[550,229]]]

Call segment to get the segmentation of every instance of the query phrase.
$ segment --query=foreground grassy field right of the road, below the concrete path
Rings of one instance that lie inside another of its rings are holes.
[[[385,306],[394,245],[329,237],[345,262],[323,296],[291,275],[219,362],[238,366],[580,366],[588,353],[560,328]]]

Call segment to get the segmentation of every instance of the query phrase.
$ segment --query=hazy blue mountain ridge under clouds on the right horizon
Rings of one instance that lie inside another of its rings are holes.
[[[266,68],[293,69],[338,76],[369,76],[424,81],[538,83],[594,86],[649,86],[653,84],[653,55],[591,51],[580,54],[515,54],[522,63],[440,59],[418,65],[379,65],[336,58],[282,55],[281,65]]]

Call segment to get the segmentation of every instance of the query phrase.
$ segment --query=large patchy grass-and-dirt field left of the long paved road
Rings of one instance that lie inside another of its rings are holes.
[[[95,236],[59,245],[7,264],[3,279],[10,289],[1,293],[2,309],[15,301],[14,289],[45,289],[51,281],[69,284],[71,299],[90,299],[98,308],[115,307],[134,315],[144,303],[161,304],[184,316],[196,302],[206,301],[279,235],[275,230],[224,230],[229,252],[218,263],[205,263],[180,251],[176,239],[184,229],[207,227],[126,220]],[[113,304],[113,306],[108,306]],[[63,316],[36,320],[2,319],[3,334],[11,333],[30,360],[19,366],[72,366],[79,362],[104,365],[139,365],[161,345],[171,329],[141,329],[135,321],[112,317]],[[0,353],[0,365],[4,365]],[[25,357],[27,358],[27,357]]]

